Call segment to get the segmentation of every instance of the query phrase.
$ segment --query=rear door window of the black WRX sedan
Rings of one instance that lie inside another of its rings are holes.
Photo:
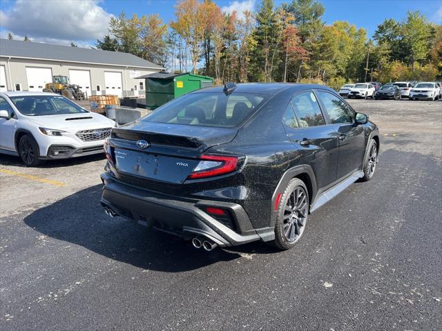
[[[318,100],[313,92],[298,94],[291,103],[298,114],[300,128],[325,124],[323,113],[320,111]]]

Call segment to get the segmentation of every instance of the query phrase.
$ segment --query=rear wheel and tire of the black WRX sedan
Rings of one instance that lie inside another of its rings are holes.
[[[309,194],[305,183],[291,179],[282,193],[275,224],[275,239],[270,243],[280,250],[292,248],[302,237],[309,214]]]

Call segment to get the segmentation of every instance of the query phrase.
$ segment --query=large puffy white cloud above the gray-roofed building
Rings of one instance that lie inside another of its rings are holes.
[[[111,17],[98,0],[17,0],[10,10],[0,10],[4,30],[16,36],[26,34],[32,41],[60,44],[86,45],[86,41],[101,39]]]

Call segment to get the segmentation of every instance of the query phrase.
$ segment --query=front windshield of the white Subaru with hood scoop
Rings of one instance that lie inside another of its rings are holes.
[[[77,103],[57,95],[26,95],[10,97],[15,107],[23,115],[45,116],[61,114],[80,114],[87,112]]]

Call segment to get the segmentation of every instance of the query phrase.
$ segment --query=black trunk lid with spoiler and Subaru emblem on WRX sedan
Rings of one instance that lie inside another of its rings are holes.
[[[113,128],[115,169],[119,174],[139,179],[181,184],[198,165],[198,157],[204,150],[229,143],[237,133],[235,128],[154,122]]]

